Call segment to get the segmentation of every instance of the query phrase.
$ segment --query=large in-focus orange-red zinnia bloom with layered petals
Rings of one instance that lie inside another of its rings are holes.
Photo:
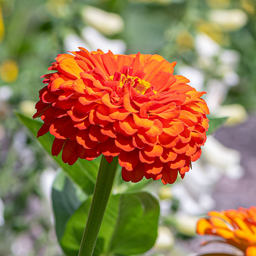
[[[206,140],[207,105],[176,62],[159,55],[114,55],[84,48],[60,54],[44,75],[37,112],[38,136],[55,136],[52,155],[74,164],[103,154],[118,156],[125,181],[183,178]]]

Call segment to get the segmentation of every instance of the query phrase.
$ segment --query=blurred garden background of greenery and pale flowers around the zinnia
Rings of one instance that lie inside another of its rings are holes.
[[[0,0],[0,256],[63,255],[50,199],[58,167],[13,109],[31,117],[39,77],[78,46],[177,61],[211,116],[228,117],[182,182],[145,188],[162,216],[147,255],[211,250],[195,235],[199,216],[256,204],[255,13],[254,0]]]

